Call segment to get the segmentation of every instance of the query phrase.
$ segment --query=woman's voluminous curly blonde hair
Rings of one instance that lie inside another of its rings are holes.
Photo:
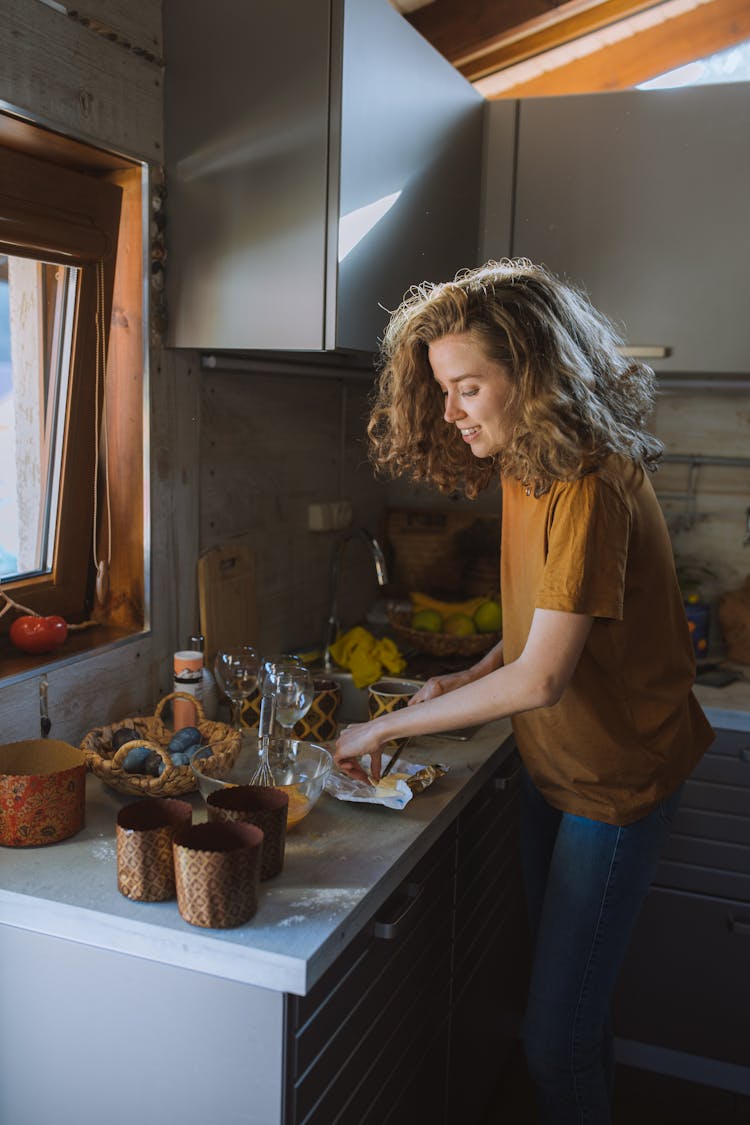
[[[477,458],[443,420],[427,349],[469,333],[505,366],[512,438]],[[453,281],[415,286],[392,313],[380,349],[368,424],[370,459],[388,476],[475,497],[500,475],[540,495],[611,453],[654,469],[662,444],[644,429],[654,376],[622,357],[622,340],[575,287],[527,259],[503,259]]]

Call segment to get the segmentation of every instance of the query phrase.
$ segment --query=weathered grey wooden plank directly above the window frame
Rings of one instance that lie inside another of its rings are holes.
[[[161,4],[147,4],[161,18]],[[40,0],[0,0],[0,102],[138,159],[163,160],[162,70]]]

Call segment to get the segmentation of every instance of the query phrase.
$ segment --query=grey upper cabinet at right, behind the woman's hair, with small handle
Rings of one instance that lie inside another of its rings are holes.
[[[513,249],[661,372],[750,370],[750,86],[519,104]]]

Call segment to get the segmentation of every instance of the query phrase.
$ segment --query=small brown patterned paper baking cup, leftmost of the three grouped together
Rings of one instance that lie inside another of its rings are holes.
[[[192,822],[187,801],[146,796],[117,813],[117,886],[139,902],[174,898],[172,844],[180,828]]]

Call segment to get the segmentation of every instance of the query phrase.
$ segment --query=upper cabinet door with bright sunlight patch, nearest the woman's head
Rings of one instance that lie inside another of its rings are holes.
[[[390,4],[343,7],[327,346],[376,351],[410,286],[477,264],[485,104]]]

